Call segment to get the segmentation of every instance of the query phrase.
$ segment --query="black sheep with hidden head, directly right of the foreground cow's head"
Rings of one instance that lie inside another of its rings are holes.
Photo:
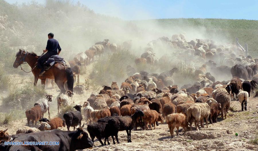
[[[89,134],[91,136],[92,142],[94,142],[94,138],[96,137],[99,140],[99,142],[101,143],[101,145],[104,145],[104,144],[106,145],[106,140],[107,140],[107,144],[110,145],[110,143],[108,141],[108,137],[111,136],[111,134],[110,134],[111,129],[110,129],[109,124],[107,124],[107,123],[89,124],[87,126],[87,131],[89,132]],[[101,138],[105,138],[104,144],[101,141]]]

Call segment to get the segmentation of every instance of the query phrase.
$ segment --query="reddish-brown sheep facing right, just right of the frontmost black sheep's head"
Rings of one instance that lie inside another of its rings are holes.
[[[155,110],[144,110],[144,116],[142,120],[144,120],[146,129],[148,129],[148,123],[150,125],[150,129],[152,130],[151,124],[154,125],[154,129],[156,129],[156,122],[163,123],[164,118]]]

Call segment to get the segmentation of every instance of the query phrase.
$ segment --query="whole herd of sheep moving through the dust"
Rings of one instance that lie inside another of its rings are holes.
[[[132,47],[131,40],[125,41],[122,45],[110,44],[108,41],[105,39],[95,43],[85,53],[77,54],[74,60],[69,62],[74,75],[78,75],[78,81],[79,66],[89,65],[95,55],[100,57],[108,50],[115,52]],[[174,58],[164,54],[157,59],[156,53],[164,49],[171,50]],[[173,51],[174,49],[177,51]],[[153,130],[159,126],[159,122],[168,124],[172,137],[174,128],[177,128],[178,135],[179,127],[183,127],[184,132],[192,130],[193,122],[195,130],[199,130],[199,124],[204,128],[204,120],[208,127],[209,122],[211,124],[217,122],[219,115],[222,119],[227,118],[232,100],[238,99],[242,111],[247,110],[248,98],[258,84],[256,72],[258,59],[252,59],[244,53],[245,50],[234,44],[221,45],[208,39],[194,39],[187,42],[183,34],[173,35],[171,40],[168,37],[160,37],[147,44],[141,57],[135,59],[136,65],[149,64],[153,67],[167,61],[173,64],[184,58],[189,60],[187,67],[195,69],[194,82],[184,83],[179,88],[180,84],[177,85],[177,81],[173,79],[173,75],[179,71],[177,67],[171,66],[171,70],[158,74],[137,72],[137,69],[128,65],[126,67],[128,78],[121,85],[112,82],[110,86],[104,85],[99,92],[92,92],[82,106],[80,104],[74,106],[75,111],[66,112],[63,119],[43,118],[46,111],[49,115],[50,102],[52,102],[52,96],[46,95],[46,98],[38,100],[33,108],[26,110],[28,125],[30,120],[32,124],[34,121],[35,124],[36,121],[40,121],[39,128],[24,126],[17,130],[17,134],[61,130],[65,125],[68,131],[71,126],[75,130],[85,120],[92,141],[96,137],[101,145],[106,145],[106,141],[110,144],[108,140],[110,136],[114,144],[116,144],[114,137],[116,142],[120,143],[119,131],[125,130],[127,142],[132,142],[133,128],[137,130],[140,126],[141,130],[148,128]],[[216,72],[220,75],[215,74]],[[215,80],[222,75],[230,77],[230,80]],[[69,106],[69,97],[72,95],[73,92],[70,91],[67,95],[61,94],[57,97],[58,113],[60,106]],[[104,143],[102,138],[105,139]]]

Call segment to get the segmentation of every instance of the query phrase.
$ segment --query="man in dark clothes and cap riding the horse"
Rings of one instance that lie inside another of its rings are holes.
[[[46,49],[43,50],[43,52],[44,53],[46,52],[46,53],[38,58],[38,68],[41,69],[39,76],[43,76],[43,74],[46,72],[46,69],[44,68],[44,65],[43,65],[43,61],[47,60],[52,55],[59,55],[60,51],[61,51],[61,47],[58,41],[54,39],[54,34],[49,33]]]

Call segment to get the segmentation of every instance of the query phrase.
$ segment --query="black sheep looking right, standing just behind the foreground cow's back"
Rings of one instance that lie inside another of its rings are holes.
[[[69,111],[69,112],[66,112],[64,114],[64,121],[65,121],[65,124],[67,125],[67,130],[70,131],[70,127],[73,126],[73,130],[75,130],[75,127],[80,124],[80,127],[81,127],[81,120],[83,119],[82,118],[82,115],[81,115],[81,105],[76,105],[74,106],[75,110],[77,111]]]

